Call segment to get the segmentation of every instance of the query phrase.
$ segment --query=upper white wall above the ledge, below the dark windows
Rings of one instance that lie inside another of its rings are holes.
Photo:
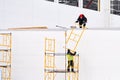
[[[80,1],[82,2],[82,1]],[[83,13],[89,28],[119,28],[119,16],[110,15],[110,1],[101,0],[101,11],[83,9],[45,0],[0,0],[0,29],[25,26],[56,25],[70,27]],[[80,3],[81,4],[81,3]],[[111,26],[110,26],[111,25]]]

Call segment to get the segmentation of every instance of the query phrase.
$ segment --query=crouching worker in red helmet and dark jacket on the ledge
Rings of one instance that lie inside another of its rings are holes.
[[[87,23],[87,18],[84,16],[84,14],[80,14],[76,23],[79,22],[79,27],[82,28],[82,25],[83,27],[85,28],[86,26],[86,23]]]

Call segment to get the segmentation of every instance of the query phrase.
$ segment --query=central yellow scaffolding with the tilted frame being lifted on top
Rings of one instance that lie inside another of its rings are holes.
[[[56,80],[57,73],[64,73],[65,74],[65,80],[79,80],[79,54],[74,56],[74,72],[68,72],[67,71],[67,58],[66,58],[66,50],[70,49],[72,52],[76,51],[76,48],[78,46],[78,43],[84,33],[86,28],[83,28],[82,30],[79,30],[78,33],[75,33],[75,29],[72,29],[69,33],[69,35],[65,35],[67,38],[65,41],[65,53],[55,53],[55,39],[48,39],[45,38],[45,62],[44,62],[44,80]],[[74,46],[69,47],[70,43],[74,43]],[[57,69],[55,64],[55,57],[57,56],[63,56],[65,59],[65,69]]]

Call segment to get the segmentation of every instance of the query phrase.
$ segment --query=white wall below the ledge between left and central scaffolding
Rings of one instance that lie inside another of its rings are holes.
[[[12,79],[44,80],[45,37],[56,39],[56,52],[64,52],[63,31],[13,32]]]

